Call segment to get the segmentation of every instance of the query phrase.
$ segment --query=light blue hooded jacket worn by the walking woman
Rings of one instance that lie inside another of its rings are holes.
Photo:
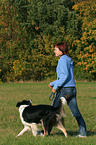
[[[56,72],[57,80],[50,83],[54,89],[57,90],[59,87],[75,87],[73,61],[69,56],[62,55],[60,57]]]

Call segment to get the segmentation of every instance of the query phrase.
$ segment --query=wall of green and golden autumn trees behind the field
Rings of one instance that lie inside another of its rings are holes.
[[[54,44],[66,41],[76,80],[96,79],[96,1],[1,0],[0,81],[55,75]]]

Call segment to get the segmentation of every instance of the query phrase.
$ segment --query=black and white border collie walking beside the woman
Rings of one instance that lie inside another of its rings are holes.
[[[64,104],[66,100],[61,97],[59,106],[54,108],[50,105],[32,105],[32,101],[23,100],[18,102],[16,107],[19,107],[20,119],[24,125],[24,129],[16,136],[22,135],[28,130],[32,130],[34,136],[37,135],[38,124],[42,124],[44,134],[50,132],[55,126],[60,129],[65,137],[67,137],[66,129],[64,128]]]

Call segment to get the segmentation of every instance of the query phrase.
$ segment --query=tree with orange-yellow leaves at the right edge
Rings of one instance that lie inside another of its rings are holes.
[[[74,10],[81,19],[81,37],[73,41],[73,46],[77,49],[76,67],[81,67],[85,79],[96,78],[96,2],[81,2],[74,5]],[[86,73],[86,75],[85,75]]]

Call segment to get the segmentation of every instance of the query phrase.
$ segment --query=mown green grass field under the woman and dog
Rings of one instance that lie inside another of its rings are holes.
[[[50,104],[48,83],[0,84],[0,145],[95,145],[96,143],[96,82],[77,82],[77,101],[87,125],[87,138],[76,138],[78,125],[65,105],[65,128],[68,138],[54,128],[50,136],[34,137],[31,132],[16,138],[23,129],[16,103],[32,99],[33,104]]]

